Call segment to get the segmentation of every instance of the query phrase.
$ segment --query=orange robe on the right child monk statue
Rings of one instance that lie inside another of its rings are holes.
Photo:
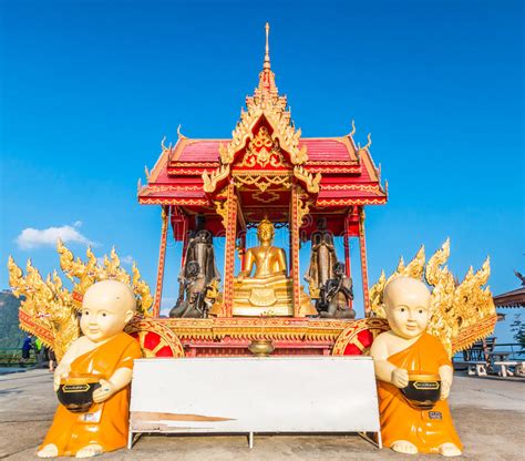
[[[443,365],[452,366],[441,341],[424,332],[409,348],[390,356],[388,360],[398,368],[437,375]],[[421,453],[437,453],[445,442],[463,449],[452,423],[447,400],[440,400],[432,410],[412,408],[395,386],[378,380],[381,438],[384,447],[406,440]]]

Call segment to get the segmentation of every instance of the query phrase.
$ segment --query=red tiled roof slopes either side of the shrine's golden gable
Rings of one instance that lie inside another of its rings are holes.
[[[202,174],[219,166],[219,144],[229,140],[182,139],[172,151],[164,151],[158,158],[148,184],[140,193],[140,199],[195,201],[206,199]],[[321,173],[318,199],[339,203],[341,199],[356,203],[385,203],[387,194],[381,188],[377,168],[370,153],[361,151],[359,157],[350,136],[302,139],[306,145],[307,171]]]

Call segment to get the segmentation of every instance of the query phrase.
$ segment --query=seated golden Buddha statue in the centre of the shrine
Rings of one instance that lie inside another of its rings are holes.
[[[274,235],[271,222],[262,219],[257,227],[260,245],[246,252],[245,268],[234,279],[234,316],[294,316],[292,281],[287,276],[286,254],[271,245]],[[301,313],[317,314],[305,293],[301,293]]]

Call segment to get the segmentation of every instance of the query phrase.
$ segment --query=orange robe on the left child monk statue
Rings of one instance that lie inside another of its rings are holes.
[[[78,357],[71,363],[72,373],[95,375],[110,379],[120,368],[133,368],[133,360],[141,358],[138,342],[120,332],[107,342]],[[53,424],[40,447],[53,443],[59,455],[74,455],[90,443],[100,444],[104,451],[126,445],[130,410],[130,386],[121,389],[102,403],[94,403],[86,413],[72,413],[59,403]]]

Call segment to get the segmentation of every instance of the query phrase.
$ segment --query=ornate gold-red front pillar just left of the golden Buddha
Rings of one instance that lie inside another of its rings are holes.
[[[226,245],[224,249],[224,290],[223,313],[231,317],[234,307],[234,273],[235,273],[235,240],[237,238],[237,195],[235,185],[229,184],[226,191],[225,217],[223,223],[226,228]]]

